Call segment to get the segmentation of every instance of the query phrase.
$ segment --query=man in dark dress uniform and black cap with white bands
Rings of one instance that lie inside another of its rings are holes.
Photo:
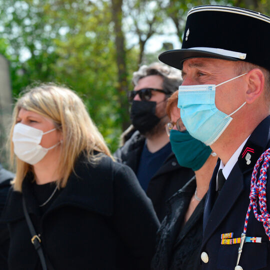
[[[266,197],[261,183],[262,190],[252,187],[262,219],[252,207],[247,214],[253,167],[270,147],[269,44],[270,17],[197,6],[188,12],[182,49],[159,55],[182,70],[178,107],[184,125],[220,157],[205,202],[202,269],[270,269],[269,221],[261,207],[270,199],[268,182]]]

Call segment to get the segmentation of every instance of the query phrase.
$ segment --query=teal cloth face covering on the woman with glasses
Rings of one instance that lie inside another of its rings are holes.
[[[193,138],[187,131],[170,130],[169,140],[179,165],[198,170],[212,150],[203,142]]]

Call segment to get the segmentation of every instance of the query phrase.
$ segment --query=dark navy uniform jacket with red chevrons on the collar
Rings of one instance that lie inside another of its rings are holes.
[[[220,161],[217,162],[210,181],[203,216],[201,251],[207,253],[208,262],[201,262],[202,269],[231,270],[236,266],[239,244],[221,245],[220,235],[233,232],[233,237],[240,237],[243,232],[249,205],[251,173],[258,157],[270,146],[269,126],[270,116],[266,117],[251,133],[214,202],[216,174]],[[250,164],[246,159],[247,153],[251,156]],[[269,178],[266,192],[269,211]],[[253,210],[250,211],[246,236],[262,237],[262,242],[244,243],[239,265],[244,270],[270,269],[270,241],[265,234],[262,222],[254,217]]]

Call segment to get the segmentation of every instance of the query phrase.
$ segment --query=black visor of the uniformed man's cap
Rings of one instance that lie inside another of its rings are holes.
[[[183,61],[189,58],[217,58],[230,61],[240,60],[238,58],[197,49],[170,49],[158,55],[158,59],[161,62],[177,69],[182,69]]]

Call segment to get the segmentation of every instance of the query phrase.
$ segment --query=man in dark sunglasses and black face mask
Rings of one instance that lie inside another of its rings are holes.
[[[169,121],[167,98],[181,84],[181,73],[164,64],[152,63],[134,72],[132,82],[134,89],[128,93],[128,99],[136,131],[116,150],[114,157],[136,173],[161,221],[165,201],[193,175],[191,169],[177,163],[165,129]]]

